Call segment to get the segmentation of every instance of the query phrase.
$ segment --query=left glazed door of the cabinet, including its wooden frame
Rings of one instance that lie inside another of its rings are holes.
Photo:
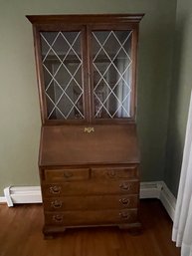
[[[87,122],[85,27],[44,25],[35,32],[43,121]]]

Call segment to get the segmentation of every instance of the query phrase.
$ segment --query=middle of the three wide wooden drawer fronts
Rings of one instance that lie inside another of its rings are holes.
[[[137,195],[66,196],[44,200],[46,211],[137,208]]]

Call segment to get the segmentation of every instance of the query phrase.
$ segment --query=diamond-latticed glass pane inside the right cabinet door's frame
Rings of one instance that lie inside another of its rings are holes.
[[[131,35],[129,30],[93,32],[96,119],[130,117]]]

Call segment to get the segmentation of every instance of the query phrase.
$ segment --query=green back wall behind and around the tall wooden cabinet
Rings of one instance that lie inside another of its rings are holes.
[[[8,185],[39,185],[41,123],[27,14],[145,13],[138,55],[141,179],[163,179],[175,10],[176,0],[0,0],[0,196]]]

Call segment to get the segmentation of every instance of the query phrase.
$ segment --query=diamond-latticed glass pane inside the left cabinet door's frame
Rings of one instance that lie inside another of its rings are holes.
[[[84,119],[81,32],[41,32],[48,119]]]

